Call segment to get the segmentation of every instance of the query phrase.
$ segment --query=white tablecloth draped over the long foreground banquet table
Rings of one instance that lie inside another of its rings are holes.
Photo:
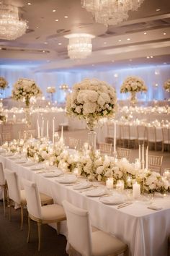
[[[156,199],[162,210],[148,209],[148,203],[143,200],[117,209],[116,205],[104,205],[99,197],[87,197],[85,192],[81,193],[71,186],[59,184],[55,181],[56,178],[45,178],[38,171],[32,171],[10,158],[0,156],[0,161],[4,168],[16,171],[20,178],[36,182],[40,192],[52,196],[55,202],[62,204],[63,200],[68,200],[79,208],[89,210],[91,224],[127,243],[129,256],[167,255],[170,234],[169,196]],[[61,225],[61,233],[66,235],[66,222]]]

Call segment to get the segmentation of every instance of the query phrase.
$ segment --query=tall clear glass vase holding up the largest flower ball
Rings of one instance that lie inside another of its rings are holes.
[[[97,133],[94,132],[94,128],[97,122],[93,117],[89,117],[86,119],[86,127],[89,129],[89,148],[92,152],[95,152],[97,147]]]

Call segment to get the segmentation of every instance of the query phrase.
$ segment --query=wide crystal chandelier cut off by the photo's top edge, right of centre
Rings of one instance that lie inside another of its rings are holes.
[[[128,19],[128,11],[135,11],[144,0],[81,0],[81,6],[104,25],[116,25]]]

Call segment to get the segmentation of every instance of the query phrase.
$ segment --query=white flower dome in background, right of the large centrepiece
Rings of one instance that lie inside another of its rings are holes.
[[[122,83],[120,93],[147,92],[147,87],[139,77],[127,77]]]

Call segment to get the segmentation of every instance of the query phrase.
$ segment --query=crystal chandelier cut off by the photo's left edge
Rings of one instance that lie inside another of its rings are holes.
[[[0,39],[14,40],[24,35],[27,22],[19,20],[18,7],[0,2]]]

